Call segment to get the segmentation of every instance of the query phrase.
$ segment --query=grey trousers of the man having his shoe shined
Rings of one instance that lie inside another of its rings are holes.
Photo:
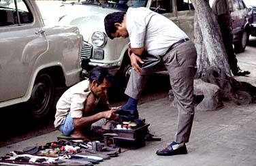
[[[162,57],[162,65],[150,69],[143,69],[140,74],[131,71],[131,77],[125,90],[126,95],[133,99],[138,99],[142,93],[148,74],[153,71],[167,69],[178,108],[178,129],[174,140],[178,143],[189,142],[193,124],[193,77],[196,59],[197,52],[193,42],[190,40],[186,41],[170,50],[170,52],[167,52]]]

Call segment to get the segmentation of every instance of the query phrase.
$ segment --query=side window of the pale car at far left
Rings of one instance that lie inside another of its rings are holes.
[[[31,11],[24,1],[1,0],[0,16],[0,27],[33,22]]]

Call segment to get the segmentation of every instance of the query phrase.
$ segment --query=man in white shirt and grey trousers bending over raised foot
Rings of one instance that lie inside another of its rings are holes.
[[[157,71],[159,64],[148,69],[141,68],[142,54],[147,52],[160,56],[169,71],[170,83],[178,107],[178,129],[174,142],[157,150],[157,155],[187,154],[185,143],[189,142],[194,117],[193,76],[197,59],[195,46],[174,22],[146,7],[129,8],[127,13],[114,12],[105,20],[105,30],[110,37],[129,37],[129,57],[133,70],[125,90],[129,99],[122,110],[137,110],[148,73]],[[159,82],[160,84],[160,82]]]

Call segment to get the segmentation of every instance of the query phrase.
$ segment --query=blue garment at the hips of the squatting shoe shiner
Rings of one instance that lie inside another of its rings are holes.
[[[65,136],[71,135],[71,133],[74,131],[74,122],[73,118],[71,118],[70,112],[67,114],[66,118],[61,121],[61,125],[59,125],[58,129]]]

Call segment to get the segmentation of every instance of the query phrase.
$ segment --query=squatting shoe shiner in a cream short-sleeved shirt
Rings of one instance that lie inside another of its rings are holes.
[[[95,67],[88,80],[69,88],[57,102],[54,127],[65,136],[87,139],[91,126],[118,120],[116,108],[108,107],[107,88],[112,76],[107,69]]]

